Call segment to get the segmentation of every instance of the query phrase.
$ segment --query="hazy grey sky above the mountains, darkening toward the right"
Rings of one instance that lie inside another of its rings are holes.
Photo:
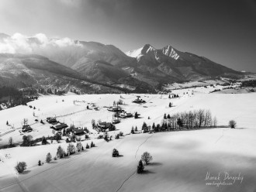
[[[166,45],[256,72],[256,0],[0,0],[0,32]]]

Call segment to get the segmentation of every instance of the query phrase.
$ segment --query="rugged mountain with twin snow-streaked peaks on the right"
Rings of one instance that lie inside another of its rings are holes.
[[[152,79],[161,83],[170,81],[198,81],[214,77],[240,77],[242,73],[224,67],[205,57],[199,57],[192,53],[183,53],[172,46],[164,46],[157,50],[146,44],[138,50],[126,53],[129,57],[135,57],[140,73],[137,77],[144,77],[145,81]],[[136,76],[134,76],[136,77]]]

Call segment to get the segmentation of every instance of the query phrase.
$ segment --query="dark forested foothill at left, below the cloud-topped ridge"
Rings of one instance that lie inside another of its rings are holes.
[[[119,87],[90,81],[76,70],[39,55],[0,54],[0,79],[0,86],[14,85],[18,88],[50,88],[61,91],[75,88],[84,93],[125,91]]]

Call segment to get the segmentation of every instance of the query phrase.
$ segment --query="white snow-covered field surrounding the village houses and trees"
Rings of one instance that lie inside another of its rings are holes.
[[[166,94],[43,96],[28,104],[36,109],[18,106],[0,111],[1,145],[8,143],[10,136],[14,142],[22,142],[19,131],[23,118],[28,118],[33,132],[22,134],[33,135],[33,139],[53,135],[50,124],[42,125],[34,120],[46,122],[47,117],[57,116],[57,120],[67,125],[86,126],[92,134],[90,140],[82,141],[83,145],[93,141],[97,146],[43,166],[37,166],[39,159],[44,161],[49,152],[55,156],[57,146],[66,149],[67,143],[1,149],[0,191],[255,191],[256,94],[208,94],[210,86],[201,89],[174,90],[172,93],[181,97],[171,99]],[[147,103],[132,103],[137,95]],[[237,129],[125,135],[111,142],[95,139],[98,133],[92,129],[92,118],[96,122],[99,119],[111,122],[113,113],[106,107],[119,99],[125,103],[123,109],[131,113],[137,111],[141,118],[122,119],[110,135],[120,131],[129,134],[132,126],[141,129],[143,122],[148,125],[160,123],[164,113],[171,115],[199,108],[210,109],[218,119],[218,125],[227,125],[234,119]],[[173,108],[168,108],[169,102],[174,104]],[[90,109],[86,109],[87,105]],[[112,158],[113,148],[123,156]],[[145,167],[144,174],[137,175],[137,162],[145,151],[153,156],[153,161]],[[18,161],[28,164],[26,173],[15,173],[13,167]],[[205,180],[207,172],[212,176],[218,176],[218,173],[223,176],[225,172],[237,176],[240,173],[243,180],[236,180],[229,186],[209,186]]]

